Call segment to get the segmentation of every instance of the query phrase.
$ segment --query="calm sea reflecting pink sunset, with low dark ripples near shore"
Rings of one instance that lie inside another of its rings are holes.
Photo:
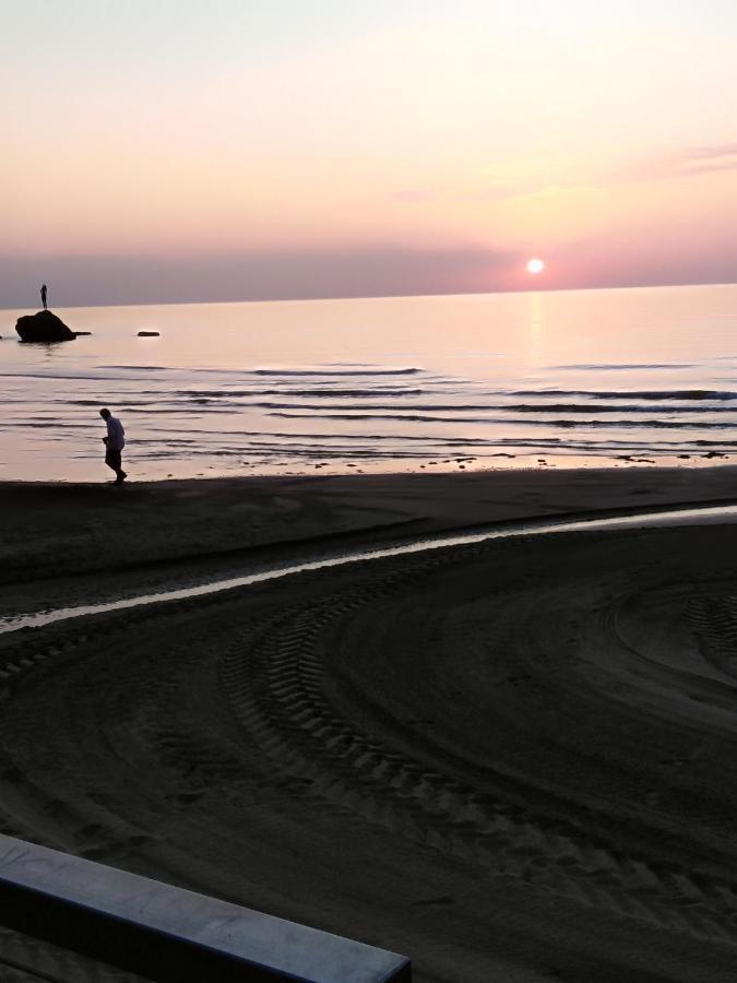
[[[0,478],[110,477],[102,405],[131,477],[737,454],[737,286],[57,309],[93,332],[57,345],[27,312]]]

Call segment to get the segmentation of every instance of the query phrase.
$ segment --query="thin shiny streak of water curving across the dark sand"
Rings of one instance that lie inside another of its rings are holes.
[[[241,577],[230,577],[224,580],[215,580],[201,583],[195,587],[178,590],[161,591],[153,594],[141,594],[135,597],[110,601],[103,604],[88,604],[79,607],[61,607],[56,611],[41,611],[35,614],[20,615],[16,617],[0,618],[0,633],[20,631],[23,628],[41,628],[56,621],[87,615],[105,614],[106,612],[123,611],[140,607],[146,604],[161,604],[169,601],[185,601],[191,597],[202,597],[207,594],[230,591],[241,587],[250,587],[254,583],[263,583],[269,580],[277,580],[284,577],[294,577],[298,573],[307,573],[314,570],[323,570],[330,567],[359,564],[369,560],[385,559],[393,556],[423,553],[430,549],[457,548],[484,543],[489,540],[509,540],[523,536],[547,535],[550,533],[593,532],[602,530],[627,530],[639,528],[655,528],[667,525],[682,525],[683,523],[703,524],[709,522],[725,522],[737,518],[737,506],[716,506],[704,508],[671,508],[657,512],[628,512],[615,517],[581,518],[570,521],[548,521],[534,524],[515,524],[496,526],[478,532],[464,533],[462,535],[440,535],[438,537],[424,537],[411,542],[404,542],[395,546],[381,549],[360,549],[350,553],[325,557],[301,564],[290,564],[273,569],[263,569]]]

